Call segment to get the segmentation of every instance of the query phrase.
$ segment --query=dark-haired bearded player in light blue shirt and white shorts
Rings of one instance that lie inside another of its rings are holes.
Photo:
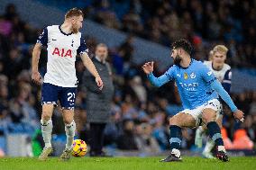
[[[179,151],[182,139],[181,128],[198,127],[201,120],[206,124],[209,136],[215,141],[216,157],[222,161],[228,161],[221,130],[216,123],[216,118],[221,112],[218,94],[228,104],[235,119],[243,121],[243,112],[237,109],[230,95],[216,80],[213,72],[202,62],[190,58],[191,51],[192,46],[187,40],[175,41],[171,50],[171,58],[174,59],[175,65],[160,77],[155,77],[152,74],[153,62],[145,63],[142,66],[152,85],[160,87],[174,80],[184,108],[183,111],[169,119],[171,152],[168,157],[160,161],[181,161]]]

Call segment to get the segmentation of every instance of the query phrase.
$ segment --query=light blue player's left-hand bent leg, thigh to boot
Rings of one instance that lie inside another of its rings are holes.
[[[180,156],[180,144],[182,139],[181,128],[191,128],[196,126],[195,119],[186,113],[178,113],[175,116],[169,119],[169,132],[170,132],[170,153],[169,156],[161,159],[160,162],[172,162],[172,161],[181,161]]]

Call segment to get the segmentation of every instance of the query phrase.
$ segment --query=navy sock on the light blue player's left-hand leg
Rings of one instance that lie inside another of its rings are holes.
[[[170,132],[169,133],[170,149],[173,149],[173,148],[179,149],[181,145],[181,139],[182,139],[181,128],[176,125],[170,125],[169,132]]]

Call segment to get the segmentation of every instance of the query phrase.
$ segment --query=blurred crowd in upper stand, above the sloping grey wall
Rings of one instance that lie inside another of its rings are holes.
[[[87,18],[168,47],[172,40],[185,37],[194,43],[197,59],[205,59],[213,44],[224,43],[230,49],[233,67],[256,66],[255,1],[100,2],[87,2]]]

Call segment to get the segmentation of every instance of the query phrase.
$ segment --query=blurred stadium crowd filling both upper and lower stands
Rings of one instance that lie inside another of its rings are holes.
[[[105,145],[113,148],[149,153],[168,149],[168,117],[182,110],[173,84],[159,89],[151,86],[141,66],[132,62],[133,36],[166,46],[180,36],[186,37],[194,44],[194,57],[200,60],[207,58],[216,43],[224,43],[230,49],[228,63],[232,67],[256,67],[255,1],[102,0],[101,3],[87,1],[84,9],[87,19],[131,33],[123,44],[109,49],[115,93],[112,121],[105,129]],[[10,133],[29,134],[32,141],[39,143],[42,140],[41,87],[32,84],[30,74],[32,47],[40,33],[41,29],[23,21],[13,4],[6,6],[0,16],[0,149],[4,151],[5,136]],[[98,43],[92,36],[86,36],[91,55]],[[46,61],[44,49],[41,75],[45,73]],[[78,59],[79,80],[83,71]],[[162,71],[156,67],[155,74],[160,76]],[[78,138],[87,141],[87,94],[82,86],[78,89]],[[232,96],[246,117],[245,122],[238,123],[225,108],[224,138],[232,141],[231,149],[247,148],[245,142],[256,143],[256,92]],[[65,134],[59,108],[55,110],[53,124],[54,134]],[[195,130],[183,130],[182,148],[194,148],[194,133]]]

